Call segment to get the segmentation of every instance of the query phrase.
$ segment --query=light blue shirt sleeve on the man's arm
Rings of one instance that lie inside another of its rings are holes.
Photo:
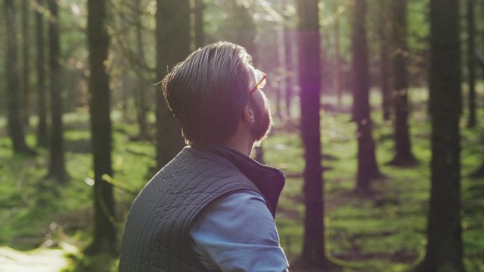
[[[283,272],[289,264],[272,215],[259,194],[241,190],[205,208],[190,225],[202,264],[223,272]]]

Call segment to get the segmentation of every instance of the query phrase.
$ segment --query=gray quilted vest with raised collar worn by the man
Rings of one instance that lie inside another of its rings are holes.
[[[190,223],[204,206],[238,189],[257,192],[275,216],[284,175],[216,144],[184,148],[150,180],[127,216],[120,272],[207,271],[190,244]]]

